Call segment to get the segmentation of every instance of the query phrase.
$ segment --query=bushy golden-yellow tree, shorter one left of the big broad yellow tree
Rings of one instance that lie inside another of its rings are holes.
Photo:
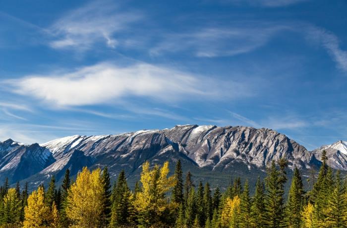
[[[42,187],[29,195],[28,206],[24,208],[24,212],[24,228],[46,227],[50,220],[50,208],[45,206],[45,191]]]

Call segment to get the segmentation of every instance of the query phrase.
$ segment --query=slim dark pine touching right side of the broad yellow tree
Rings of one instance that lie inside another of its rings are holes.
[[[111,219],[111,181],[108,168],[105,167],[102,175],[102,185],[103,185],[103,211],[101,215],[100,227],[108,227]]]

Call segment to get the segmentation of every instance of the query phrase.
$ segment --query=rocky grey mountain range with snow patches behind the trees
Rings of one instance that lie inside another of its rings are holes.
[[[334,148],[340,147],[327,146],[333,167],[347,170],[347,150]],[[113,178],[125,170],[131,183],[147,160],[151,164],[170,161],[173,170],[180,159],[183,169],[191,170],[196,178],[224,183],[231,175],[255,179],[264,174],[267,164],[282,157],[289,161],[289,168],[319,167],[320,153],[318,149],[307,151],[277,131],[245,126],[176,125],[117,135],[74,135],[41,145],[9,139],[0,143],[0,181],[8,176],[11,183],[20,180],[37,185],[52,175],[61,180],[66,169],[76,175],[84,166],[108,166]]]

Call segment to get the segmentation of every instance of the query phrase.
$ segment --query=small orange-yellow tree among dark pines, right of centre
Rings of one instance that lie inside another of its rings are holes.
[[[225,200],[222,215],[221,223],[223,227],[234,228],[237,227],[238,216],[240,214],[240,198],[235,196],[233,199],[227,198]]]

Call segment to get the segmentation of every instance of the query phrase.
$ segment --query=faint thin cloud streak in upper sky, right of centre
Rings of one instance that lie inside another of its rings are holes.
[[[287,25],[239,21],[237,25],[228,27],[166,34],[162,42],[150,49],[150,54],[191,52],[197,57],[235,56],[264,46],[275,34],[288,29],[292,28]]]

